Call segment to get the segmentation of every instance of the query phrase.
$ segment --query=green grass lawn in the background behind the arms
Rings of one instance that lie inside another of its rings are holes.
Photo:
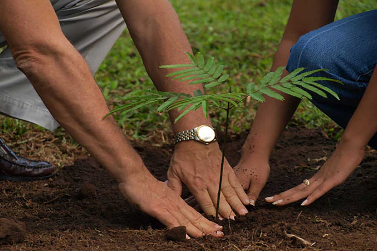
[[[206,56],[215,56],[227,65],[226,70],[232,77],[231,84],[236,90],[245,88],[251,81],[258,82],[270,70],[292,3],[288,0],[171,2],[180,16],[194,53],[200,51]],[[374,8],[375,1],[372,0],[343,0],[340,1],[336,19]],[[130,91],[154,88],[127,30],[103,61],[95,79],[111,107],[118,105]],[[135,138],[145,138],[150,132],[169,132],[168,117],[156,113],[155,108],[123,117],[116,114],[115,117],[121,128]],[[235,132],[248,129],[255,111],[253,103],[243,110],[232,111],[235,119],[231,122],[231,129]],[[307,100],[302,102],[298,111],[294,117],[295,123],[324,128],[329,133],[336,126]],[[222,125],[224,116],[220,111],[211,114],[215,125]],[[22,133],[22,129],[16,131]]]

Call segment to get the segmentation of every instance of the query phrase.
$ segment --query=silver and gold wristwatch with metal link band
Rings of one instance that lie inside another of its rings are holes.
[[[209,143],[216,141],[215,130],[210,126],[201,125],[191,130],[177,132],[174,135],[174,144],[185,140],[196,140],[208,145]]]

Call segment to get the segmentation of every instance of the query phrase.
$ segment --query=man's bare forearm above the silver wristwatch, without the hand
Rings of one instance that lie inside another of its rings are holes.
[[[193,91],[198,89],[203,91],[201,84],[189,85],[187,82],[172,81],[166,78],[166,74],[171,70],[159,69],[160,65],[190,63],[185,52],[192,53],[178,15],[169,1],[148,0],[147,3],[135,3],[135,1],[138,0],[118,1],[118,6],[156,88],[160,91],[188,94],[193,94]],[[140,7],[140,5],[144,6]],[[130,15],[141,9],[143,14]],[[170,120],[175,132],[192,129],[202,124],[211,125],[210,119],[205,119],[202,109],[186,114],[184,119],[174,124],[178,115],[177,110],[170,112]]]

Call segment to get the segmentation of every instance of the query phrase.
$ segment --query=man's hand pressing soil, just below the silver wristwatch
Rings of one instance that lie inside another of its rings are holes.
[[[189,146],[192,147],[189,147]],[[219,189],[221,151],[218,143],[208,146],[190,141],[178,143],[167,173],[169,187],[181,195],[182,182],[195,196],[199,206],[207,215],[215,216]],[[247,214],[243,205],[250,200],[237,180],[228,161],[224,161],[219,213],[224,218],[234,219],[238,214]]]

